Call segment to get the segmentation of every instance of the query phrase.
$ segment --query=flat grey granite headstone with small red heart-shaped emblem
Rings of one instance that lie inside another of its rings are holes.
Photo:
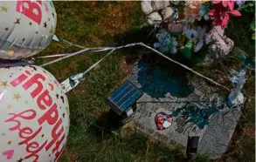
[[[218,158],[227,149],[238,123],[238,107],[225,106],[224,92],[185,72],[170,72],[139,61],[129,80],[144,92],[123,128],[132,128],[166,145],[199,137],[197,152]]]

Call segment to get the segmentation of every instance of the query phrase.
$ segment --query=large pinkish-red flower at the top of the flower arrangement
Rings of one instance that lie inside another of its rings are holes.
[[[239,10],[234,10],[234,1],[211,1],[214,5],[214,9],[210,10],[208,15],[214,18],[214,25],[221,25],[221,28],[225,28],[229,22],[230,16],[241,16]]]

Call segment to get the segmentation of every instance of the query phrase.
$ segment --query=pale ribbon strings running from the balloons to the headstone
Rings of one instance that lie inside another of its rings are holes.
[[[132,47],[132,46],[135,46],[135,45],[141,45],[141,46],[143,46],[143,47],[148,48],[148,49],[151,50],[151,51],[155,51],[158,55],[160,55],[160,56],[162,56],[162,57],[168,59],[168,60],[169,60],[170,62],[172,62],[172,63],[175,63],[175,64],[178,64],[178,65],[182,66],[184,69],[186,69],[186,70],[188,70],[188,71],[190,71],[190,72],[196,74],[198,77],[204,78],[204,79],[210,81],[211,83],[216,84],[216,85],[218,85],[218,86],[224,88],[224,89],[227,90],[227,91],[230,91],[230,89],[229,89],[228,87],[226,87],[225,85],[218,84],[218,82],[214,81],[213,79],[205,77],[204,75],[200,74],[200,73],[197,72],[197,71],[194,71],[194,70],[191,69],[190,67],[188,67],[188,66],[186,66],[186,65],[184,65],[184,64],[181,64],[181,63],[179,63],[179,62],[177,62],[177,61],[171,59],[170,57],[167,57],[167,56],[163,55],[163,53],[161,53],[160,51],[156,51],[155,49],[153,49],[153,48],[151,48],[151,47],[149,47],[148,45],[143,44],[143,43],[127,44],[127,45],[122,45],[122,46],[119,46],[119,47],[105,47],[105,48],[100,48],[100,50],[98,50],[98,51],[109,51],[109,50],[111,50],[111,51],[108,52],[105,57],[102,57],[98,62],[96,62],[95,64],[93,64],[91,67],[89,67],[86,71],[84,71],[84,72],[82,72],[82,73],[79,73],[78,75],[80,75],[80,77],[78,78],[77,81],[80,81],[80,80],[84,79],[84,75],[85,75],[88,71],[91,71],[91,70],[93,69],[93,67],[95,67],[97,64],[100,64],[101,61],[103,61],[106,57],[108,57],[108,56],[109,56],[110,54],[112,54],[114,51],[119,50],[119,49],[121,49],[121,48]],[[82,51],[78,51],[78,52],[75,52],[75,53],[73,53],[73,54],[67,55],[66,57],[61,57],[61,58],[59,58],[59,59],[53,60],[52,62],[49,62],[49,63],[46,63],[46,64],[42,64],[41,66],[46,66],[46,65],[49,65],[49,64],[53,64],[53,63],[59,62],[59,61],[61,61],[61,60],[63,60],[63,59],[66,59],[67,57],[73,57],[73,56],[78,55],[78,54],[80,54],[80,53],[82,53],[82,52],[89,51],[89,50],[95,50],[95,49],[99,49],[99,48],[86,48],[86,49],[84,49],[84,50],[82,50]],[[76,75],[75,75],[75,76],[76,76]],[[75,77],[75,76],[73,76],[73,77]]]

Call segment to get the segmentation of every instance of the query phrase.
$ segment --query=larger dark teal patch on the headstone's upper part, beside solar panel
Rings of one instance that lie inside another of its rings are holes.
[[[152,67],[146,62],[138,64],[135,82],[141,84],[141,91],[151,98],[164,98],[168,92],[176,98],[186,98],[195,90],[185,75],[176,76],[159,66]]]

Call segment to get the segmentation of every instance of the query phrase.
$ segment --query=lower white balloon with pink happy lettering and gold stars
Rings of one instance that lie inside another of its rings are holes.
[[[57,161],[69,122],[66,94],[50,72],[0,68],[0,162]]]

